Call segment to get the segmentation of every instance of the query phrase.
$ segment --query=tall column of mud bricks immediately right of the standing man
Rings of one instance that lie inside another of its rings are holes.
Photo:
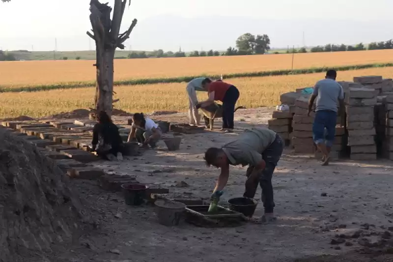
[[[375,160],[374,106],[377,104],[378,88],[369,88],[379,83],[382,77],[355,77],[354,81],[365,87],[350,87],[346,97],[346,128],[350,159]]]

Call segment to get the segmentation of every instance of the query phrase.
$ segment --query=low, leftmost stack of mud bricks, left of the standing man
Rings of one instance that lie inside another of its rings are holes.
[[[292,133],[292,113],[289,111],[274,111],[272,118],[268,120],[268,127],[277,132],[284,141],[290,140]]]

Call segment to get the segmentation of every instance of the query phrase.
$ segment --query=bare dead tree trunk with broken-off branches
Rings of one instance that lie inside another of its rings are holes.
[[[113,58],[116,48],[124,49],[124,41],[130,36],[132,29],[137,24],[134,19],[130,28],[119,34],[121,20],[127,0],[115,0],[114,12],[111,21],[112,8],[107,4],[102,4],[99,0],[90,0],[90,22],[92,26],[91,34],[87,35],[96,42],[96,94],[94,99],[94,113],[105,111],[112,115],[113,108]],[[118,100],[117,100],[118,101]]]

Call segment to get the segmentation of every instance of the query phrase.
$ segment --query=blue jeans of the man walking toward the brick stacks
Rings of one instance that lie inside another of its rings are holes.
[[[321,110],[315,113],[312,125],[312,136],[315,144],[326,143],[331,147],[335,140],[337,113],[330,110]],[[326,135],[325,135],[326,128]]]

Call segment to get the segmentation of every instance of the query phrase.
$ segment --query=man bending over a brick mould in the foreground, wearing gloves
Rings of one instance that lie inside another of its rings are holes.
[[[221,148],[207,149],[204,157],[206,164],[221,169],[211,200],[218,202],[223,194],[223,189],[229,178],[230,165],[249,166],[246,172],[246,191],[243,196],[253,198],[259,183],[262,188],[262,202],[265,208],[261,222],[275,220],[272,176],[281,158],[283,147],[283,141],[276,132],[255,127],[246,130],[239,135],[237,140]]]

